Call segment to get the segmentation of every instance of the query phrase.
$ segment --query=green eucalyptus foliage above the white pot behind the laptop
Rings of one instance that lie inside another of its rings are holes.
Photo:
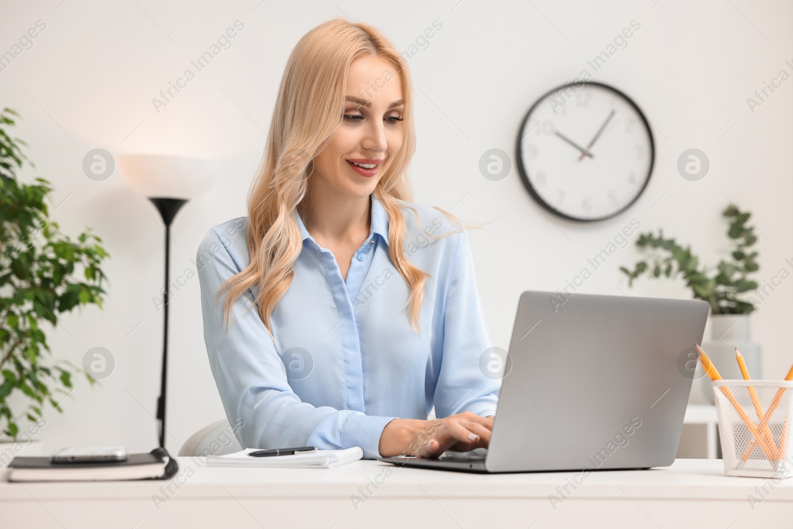
[[[659,249],[661,255],[656,255],[651,263],[639,261],[632,271],[620,266],[619,269],[628,276],[628,285],[633,286],[634,279],[645,273],[652,278],[658,278],[661,274],[667,278],[682,274],[694,297],[707,301],[713,314],[753,312],[754,305],[740,296],[741,293],[757,289],[757,282],[751,280],[749,274],[760,269],[757,251],[749,252],[749,247],[757,242],[753,226],[746,224],[751,213],[741,212],[736,206],[730,205],[722,212],[722,216],[730,220],[727,236],[735,245],[730,252],[731,260],[722,259],[715,270],[708,270],[707,266],[700,268],[699,259],[691,254],[690,245],[684,248],[674,239],[665,239],[664,232],[659,229],[658,236],[652,233],[639,236],[636,245],[642,249]]]

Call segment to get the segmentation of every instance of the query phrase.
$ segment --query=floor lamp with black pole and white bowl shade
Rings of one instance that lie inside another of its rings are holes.
[[[157,420],[159,446],[165,447],[165,409],[168,381],[168,283],[170,282],[170,224],[191,198],[214,182],[220,167],[216,160],[169,155],[118,156],[118,166],[128,186],[147,197],[165,224],[165,288],[163,289],[163,366],[160,371]]]

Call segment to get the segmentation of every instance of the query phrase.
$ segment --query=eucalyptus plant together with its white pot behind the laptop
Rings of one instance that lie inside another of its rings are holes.
[[[749,374],[760,378],[760,346],[749,338],[749,314],[754,312],[756,305],[746,297],[749,291],[757,289],[757,282],[749,277],[757,272],[757,251],[750,247],[757,242],[754,226],[749,222],[751,213],[741,212],[735,205],[729,205],[722,212],[729,221],[727,236],[732,242],[730,259],[722,259],[715,268],[700,263],[699,258],[691,253],[691,246],[682,247],[673,238],[664,236],[659,229],[658,235],[642,234],[636,245],[642,250],[653,252],[649,260],[636,263],[634,270],[621,266],[628,276],[628,285],[633,286],[634,279],[646,274],[650,278],[666,278],[682,276],[686,286],[696,299],[707,301],[711,305],[708,317],[711,337],[702,344],[703,349],[718,367],[723,378],[741,378],[741,371],[735,361],[735,349],[744,356]],[[695,378],[703,378],[705,374],[699,370]],[[707,377],[706,377],[707,378]],[[713,394],[707,381],[695,385],[691,391],[691,402],[705,401],[713,403]]]

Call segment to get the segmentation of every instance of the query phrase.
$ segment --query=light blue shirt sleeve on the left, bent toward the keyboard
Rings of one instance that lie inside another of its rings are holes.
[[[380,435],[395,417],[366,416],[302,402],[289,386],[285,366],[250,290],[236,300],[228,332],[224,328],[224,298],[215,304],[216,293],[220,284],[240,269],[223,240],[210,229],[198,247],[196,263],[209,365],[229,422],[241,424],[236,431],[240,445],[324,450],[361,447],[364,458],[379,457]]]

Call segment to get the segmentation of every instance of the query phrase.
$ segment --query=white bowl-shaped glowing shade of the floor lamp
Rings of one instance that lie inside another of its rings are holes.
[[[128,186],[149,198],[190,200],[209,189],[220,174],[216,159],[125,154],[117,161]]]

